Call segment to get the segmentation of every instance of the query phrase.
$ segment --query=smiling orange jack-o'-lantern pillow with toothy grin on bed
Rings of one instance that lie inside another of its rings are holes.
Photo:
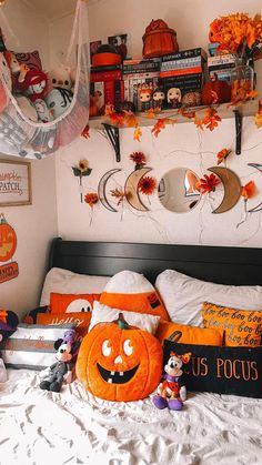
[[[147,331],[130,326],[120,313],[99,323],[80,346],[77,377],[93,395],[129,402],[147,397],[162,374],[162,347]]]

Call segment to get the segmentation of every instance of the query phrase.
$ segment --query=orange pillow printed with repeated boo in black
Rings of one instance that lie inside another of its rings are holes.
[[[203,302],[202,320],[204,327],[224,330],[224,345],[255,347],[261,344],[262,311],[229,309]]]

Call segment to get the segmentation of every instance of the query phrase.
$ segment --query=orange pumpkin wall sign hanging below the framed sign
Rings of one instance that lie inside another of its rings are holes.
[[[19,274],[18,263],[11,262],[16,250],[16,231],[8,224],[3,213],[0,213],[0,262],[8,262],[0,265],[0,284],[17,277]]]

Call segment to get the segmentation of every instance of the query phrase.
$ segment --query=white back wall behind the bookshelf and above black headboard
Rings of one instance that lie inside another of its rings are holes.
[[[131,53],[141,57],[142,34],[152,18],[162,18],[178,32],[181,49],[208,46],[209,23],[219,14],[243,11],[254,14],[260,11],[260,1],[228,0],[210,2],[209,0],[157,1],[157,0],[91,0],[89,2],[90,40],[107,41],[110,34],[127,32],[131,36]],[[61,54],[63,40],[60,36],[56,42],[57,31],[63,30],[64,42],[70,29],[71,18],[53,23],[50,30],[53,57]],[[58,29],[59,28],[59,29]],[[58,46],[58,48],[57,48]],[[260,73],[261,63],[256,64]],[[261,87],[261,77],[259,78]],[[134,165],[129,160],[133,151],[143,151],[148,156],[148,165],[153,169],[151,174],[159,181],[174,166],[187,166],[198,175],[206,173],[206,169],[216,165],[215,154],[223,148],[234,151],[234,120],[224,120],[213,132],[198,131],[193,123],[177,124],[165,129],[158,139],[153,138],[150,128],[142,129],[141,142],[133,141],[133,130],[121,130],[121,163],[115,163],[113,150],[103,133],[91,131],[91,139],[79,139],[70,148],[61,150],[56,156],[58,228],[59,234],[66,239],[89,239],[104,241],[134,242],[173,242],[260,246],[262,233],[260,229],[261,213],[254,213],[236,228],[243,219],[244,204],[242,199],[223,214],[213,214],[222,199],[221,188],[212,199],[203,198],[200,204],[187,214],[177,214],[162,208],[157,195],[148,202],[149,212],[140,213],[128,204],[118,208],[113,213],[101,202],[93,211],[80,202],[78,179],[73,176],[72,165],[80,159],[88,159],[92,173],[84,179],[84,192],[98,191],[101,176],[109,170],[119,168],[122,171],[111,178],[107,195],[112,203],[110,190],[123,188],[127,176]],[[261,202],[261,173],[250,162],[261,162],[262,130],[254,125],[253,118],[243,121],[243,150],[240,156],[234,153],[228,159],[226,166],[240,178],[241,184],[251,179],[256,184],[256,195],[249,201],[250,208]]]

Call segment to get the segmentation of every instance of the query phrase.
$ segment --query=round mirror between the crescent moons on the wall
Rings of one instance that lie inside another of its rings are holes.
[[[158,196],[162,205],[175,213],[190,212],[201,200],[199,176],[188,168],[173,168],[160,180]]]

